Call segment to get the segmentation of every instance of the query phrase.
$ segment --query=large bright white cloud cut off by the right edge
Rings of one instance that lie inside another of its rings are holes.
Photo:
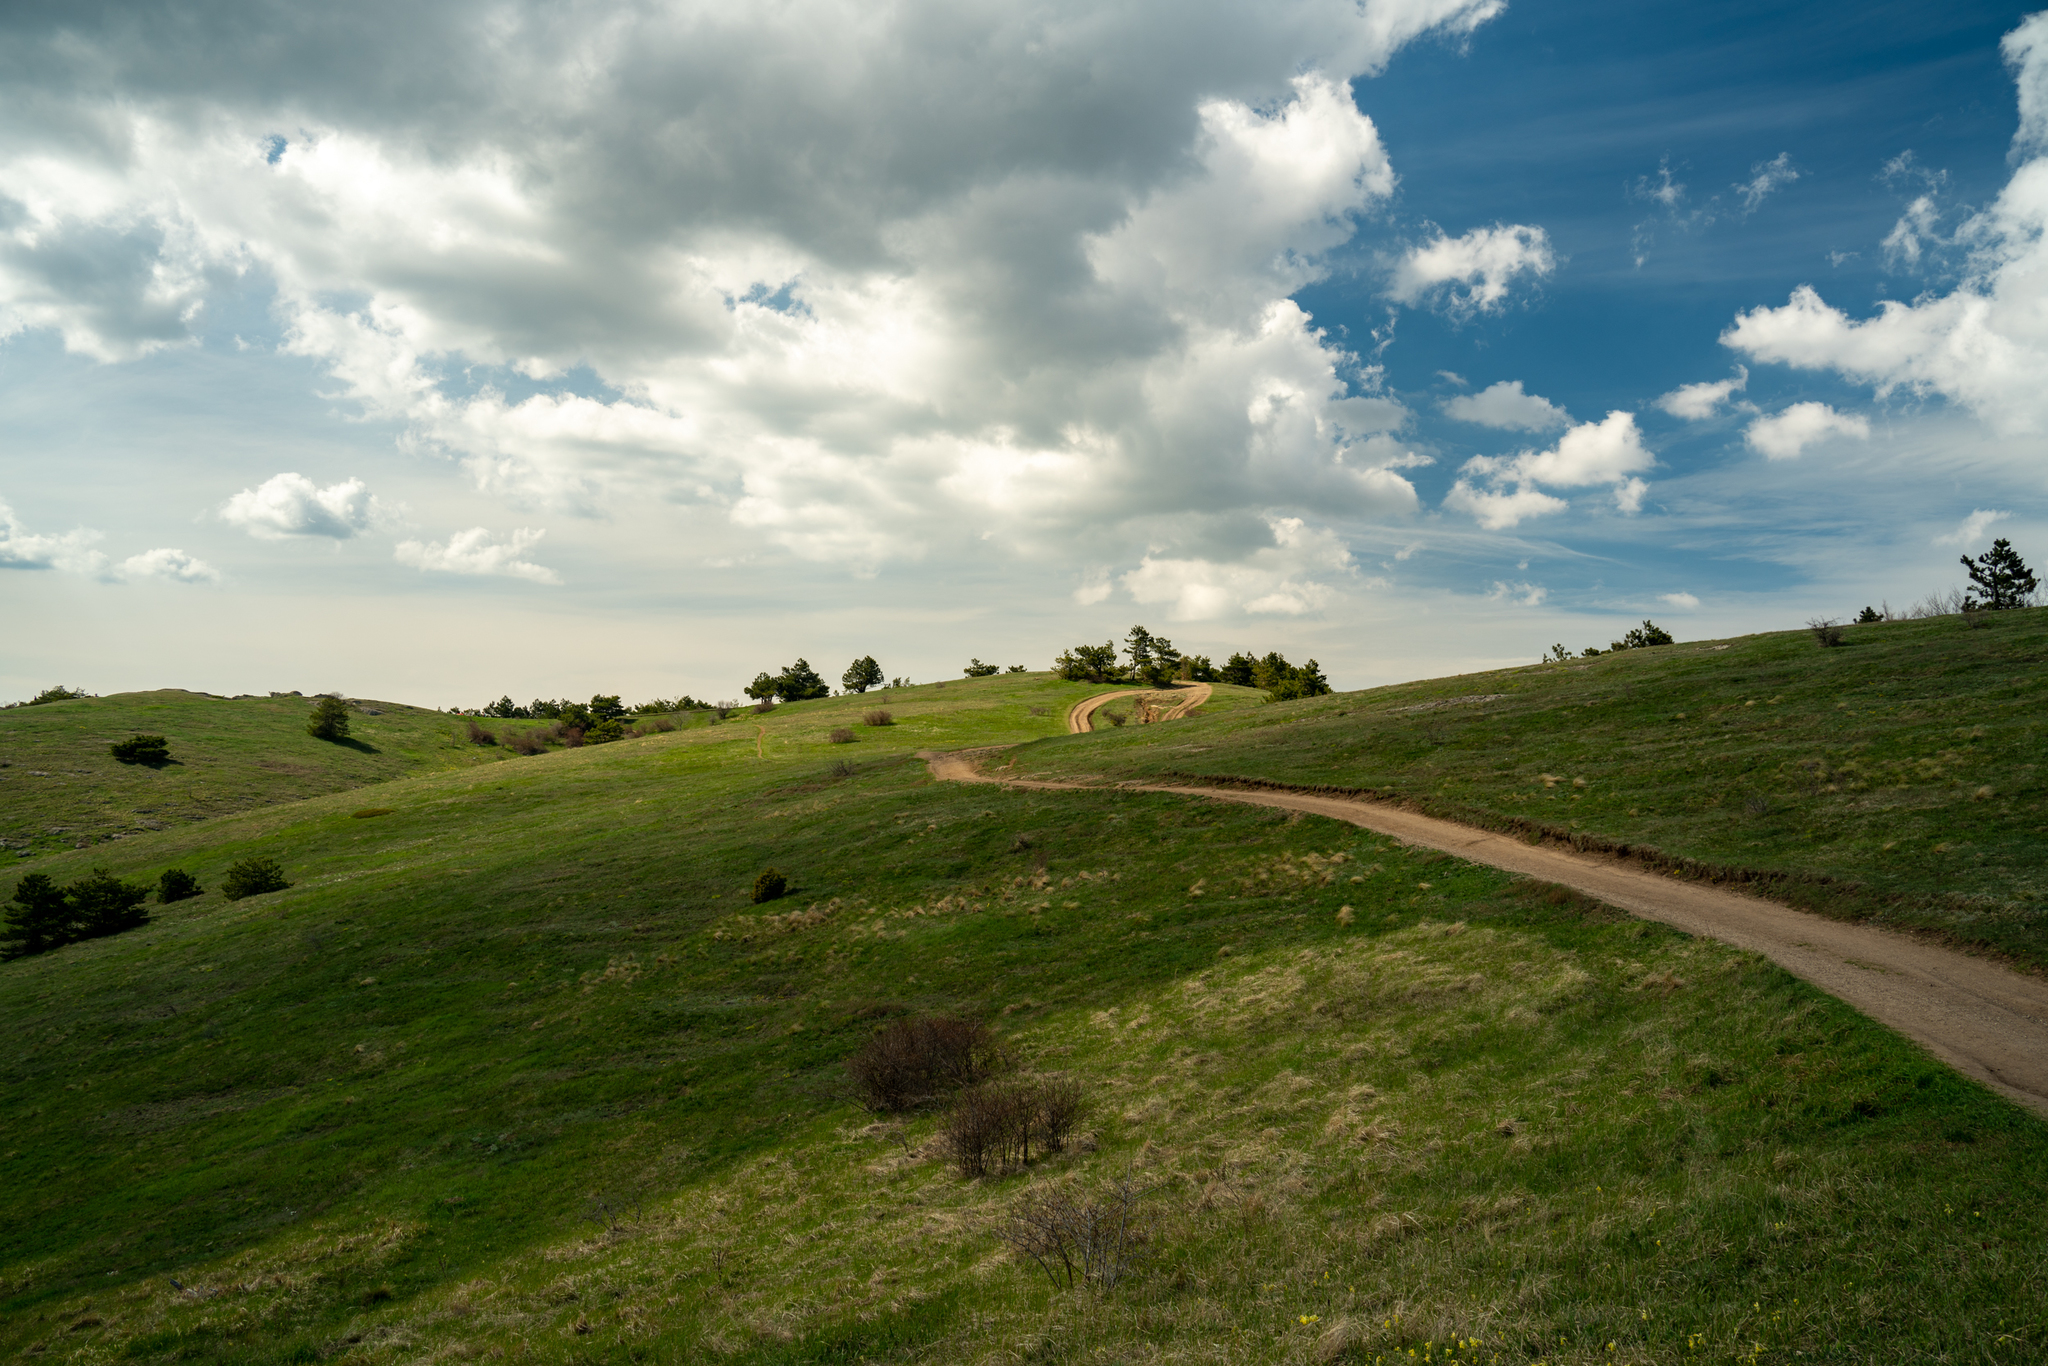
[[[1722,344],[1755,358],[1833,371],[1878,395],[1942,395],[2005,434],[2048,426],[2048,14],[2005,37],[2019,86],[2019,162],[1997,201],[1968,217],[1954,242],[1968,246],[1964,279],[1946,295],[1886,299],[1851,319],[1800,285],[1782,307],[1737,315]],[[1921,229],[1909,209],[1888,250],[1917,256]]]

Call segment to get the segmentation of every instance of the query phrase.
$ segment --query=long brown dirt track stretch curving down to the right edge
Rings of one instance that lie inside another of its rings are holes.
[[[1122,694],[1110,694],[1122,696]],[[1090,698],[1104,702],[1108,698]],[[1079,711],[1079,709],[1075,709]],[[1069,719],[1071,725],[1071,719]],[[924,754],[934,778],[1001,782],[1020,788],[1087,788],[1083,782],[1006,780],[981,772],[995,750]],[[1417,815],[1399,807],[1307,793],[1155,786],[1124,782],[1126,793],[1178,793],[1253,807],[1309,811],[1442,850],[1524,877],[1563,883],[1645,920],[1716,938],[1763,954],[1794,977],[1855,1006],[1872,1020],[1917,1040],[1944,1063],[2048,1116],[2048,981],[1921,940],[1827,920],[1788,905],[1686,883],[1595,854],[1524,844],[1509,836]]]

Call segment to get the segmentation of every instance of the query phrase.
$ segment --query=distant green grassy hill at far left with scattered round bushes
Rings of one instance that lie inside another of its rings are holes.
[[[0,711],[0,868],[23,852],[129,838],[229,811],[340,793],[414,772],[467,768],[502,752],[457,737],[461,721],[360,702],[348,739],[305,733],[311,700],[221,698],[164,688]],[[133,733],[170,739],[170,764],[119,764]]]

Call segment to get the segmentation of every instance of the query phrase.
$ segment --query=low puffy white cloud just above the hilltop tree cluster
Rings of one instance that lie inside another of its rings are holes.
[[[1268,526],[1272,545],[1235,563],[1147,555],[1120,582],[1133,600],[1165,606],[1171,621],[1217,621],[1303,616],[1335,600],[1341,582],[1358,578],[1352,553],[1333,532],[1300,518],[1272,518]]]

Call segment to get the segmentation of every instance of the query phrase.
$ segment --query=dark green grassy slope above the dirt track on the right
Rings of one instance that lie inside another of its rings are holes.
[[[1491,700],[1460,700],[1483,698]],[[1032,772],[1374,788],[1733,868],[2048,965],[2048,608],[1688,641],[1020,752]]]

